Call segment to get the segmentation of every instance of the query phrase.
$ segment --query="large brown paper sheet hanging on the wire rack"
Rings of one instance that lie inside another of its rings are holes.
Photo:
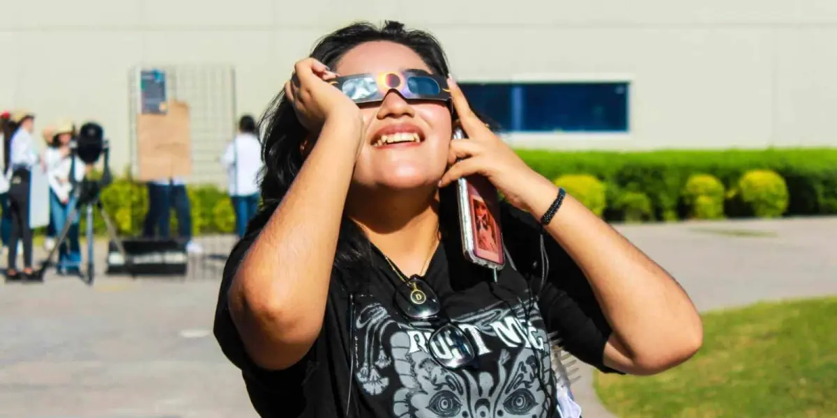
[[[156,181],[192,174],[189,106],[171,101],[165,114],[137,115],[137,176]]]

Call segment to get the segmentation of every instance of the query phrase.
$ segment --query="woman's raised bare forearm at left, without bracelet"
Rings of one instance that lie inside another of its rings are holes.
[[[326,123],[290,190],[239,265],[233,319],[251,356],[282,369],[320,333],[361,125]]]

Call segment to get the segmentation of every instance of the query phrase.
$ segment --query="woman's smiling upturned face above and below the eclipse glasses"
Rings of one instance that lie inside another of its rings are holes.
[[[334,69],[340,75],[432,69],[413,49],[369,42],[352,48]],[[366,122],[353,183],[365,189],[408,190],[435,186],[447,165],[451,117],[447,104],[410,100],[390,91],[383,102],[361,104]]]

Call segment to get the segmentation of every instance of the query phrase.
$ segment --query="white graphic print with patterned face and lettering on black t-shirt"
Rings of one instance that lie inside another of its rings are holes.
[[[380,303],[363,307],[355,323],[355,376],[363,392],[392,394],[399,418],[548,416],[555,386],[537,304],[507,306],[496,303],[452,321],[470,335],[480,370],[451,370],[435,361],[430,350],[439,359],[461,354],[437,344],[440,339],[429,344],[434,328],[427,324],[409,323]],[[388,341],[386,348],[381,341]]]

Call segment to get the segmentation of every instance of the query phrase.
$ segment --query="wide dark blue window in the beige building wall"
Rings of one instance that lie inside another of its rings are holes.
[[[628,83],[460,83],[471,107],[518,132],[627,132]]]

